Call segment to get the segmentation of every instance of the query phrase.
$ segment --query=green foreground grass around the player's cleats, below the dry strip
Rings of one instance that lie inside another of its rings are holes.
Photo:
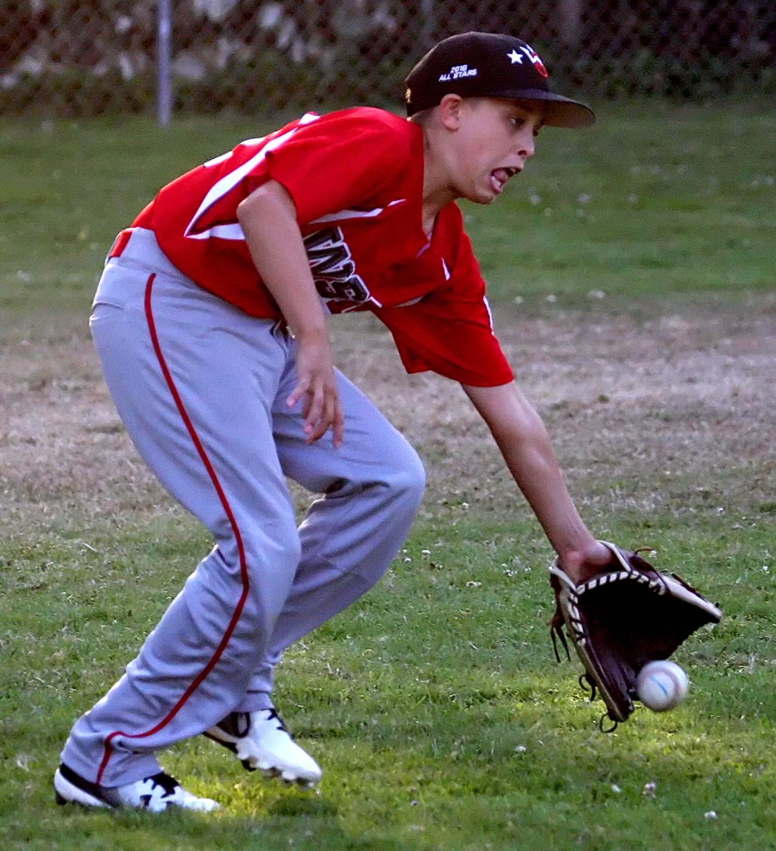
[[[382,586],[285,661],[280,705],[325,764],[320,796],[262,785],[204,740],[165,756],[227,805],[208,819],[65,813],[49,787],[73,713],[118,676],[204,550],[202,532],[175,519],[6,548],[4,847],[773,847],[776,637],[762,571],[773,523],[728,540],[713,523],[664,523],[661,558],[705,565],[693,579],[727,620],[679,654],[692,700],[665,716],[640,710],[607,736],[576,667],[552,660],[531,524],[453,527],[456,514],[422,523]],[[704,818],[712,810],[717,819]]]

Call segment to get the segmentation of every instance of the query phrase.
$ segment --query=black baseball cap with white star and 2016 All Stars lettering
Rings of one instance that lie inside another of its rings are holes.
[[[540,100],[544,123],[554,127],[582,128],[595,122],[589,106],[549,90],[549,73],[530,45],[495,32],[445,38],[423,56],[405,83],[407,115],[437,106],[445,94],[460,94]]]

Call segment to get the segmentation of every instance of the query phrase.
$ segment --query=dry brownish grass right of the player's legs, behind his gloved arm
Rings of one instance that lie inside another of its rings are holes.
[[[651,511],[683,483],[685,501],[760,505],[773,499],[774,303],[647,319],[509,311],[497,328],[581,503]],[[514,485],[459,388],[398,378],[387,334],[351,332],[348,346],[348,374],[431,462],[427,501],[511,504]]]

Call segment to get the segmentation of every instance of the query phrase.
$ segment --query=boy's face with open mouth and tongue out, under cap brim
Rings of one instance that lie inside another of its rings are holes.
[[[489,204],[533,156],[542,113],[513,100],[463,100],[451,180],[459,197]]]

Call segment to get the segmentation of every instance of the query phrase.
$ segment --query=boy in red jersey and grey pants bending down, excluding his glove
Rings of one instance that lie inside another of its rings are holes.
[[[455,200],[490,204],[544,124],[585,127],[518,38],[469,32],[407,77],[409,120],[308,114],[165,186],[122,231],[91,328],[129,435],[216,545],[124,677],[72,728],[58,802],[211,810],[157,752],[205,734],[245,768],[321,769],[272,700],[285,648],[388,568],[421,500],[414,450],[334,367],[327,313],[368,310],[408,372],[463,385],[575,580],[585,528],[514,386]],[[320,494],[297,529],[285,484]]]

